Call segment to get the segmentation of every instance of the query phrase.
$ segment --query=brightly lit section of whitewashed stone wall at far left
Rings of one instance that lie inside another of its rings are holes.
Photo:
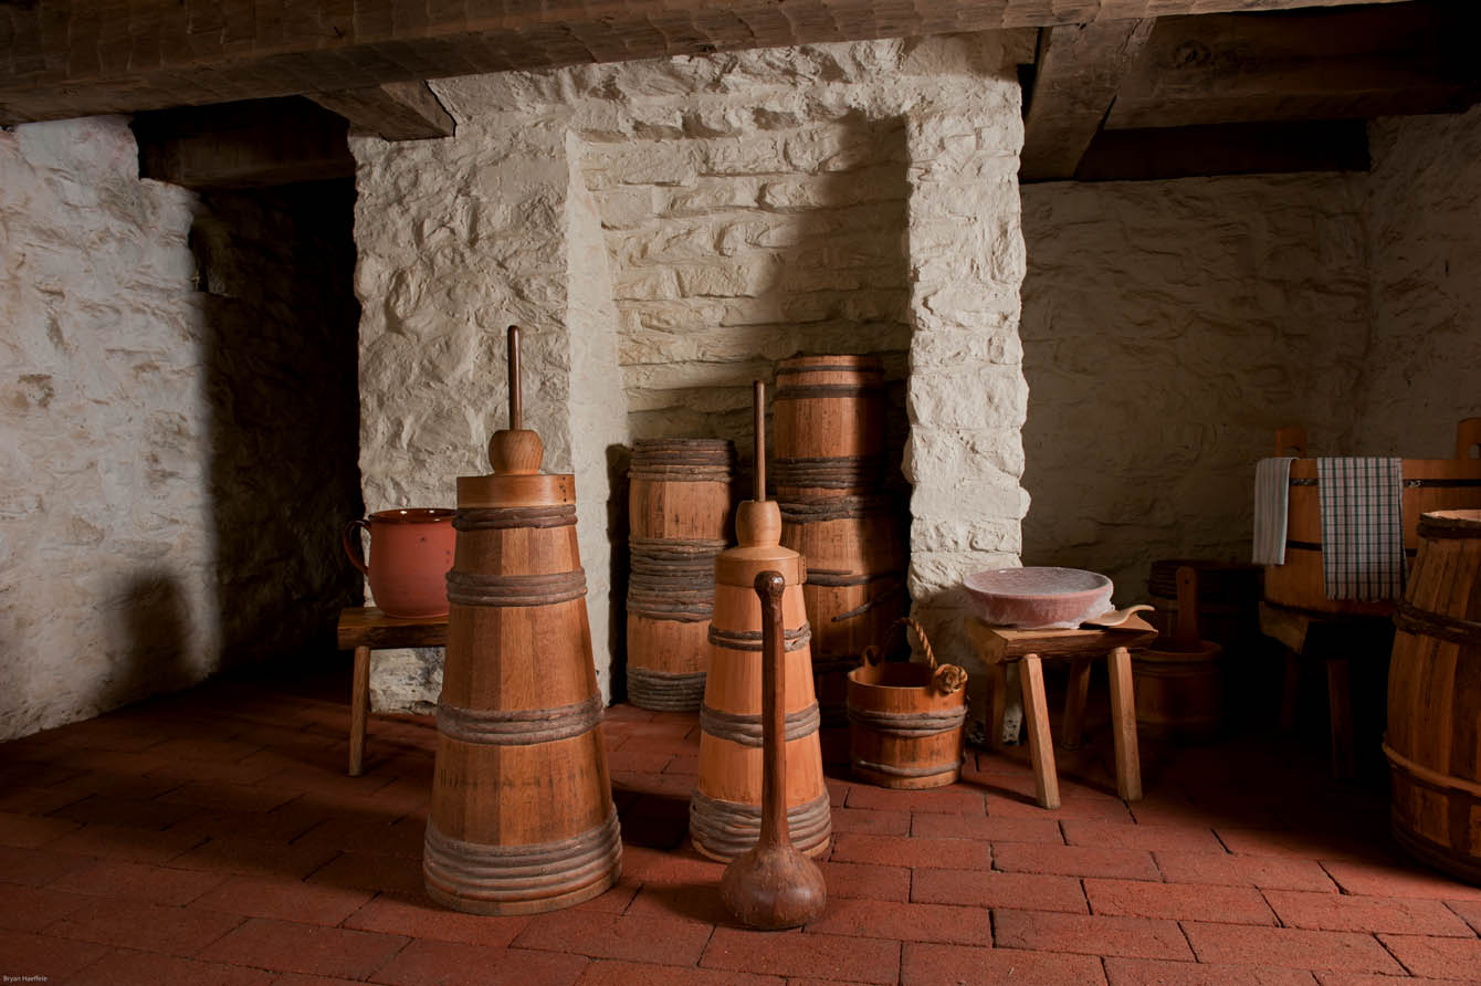
[[[0,739],[213,668],[193,201],[123,118],[0,132]]]

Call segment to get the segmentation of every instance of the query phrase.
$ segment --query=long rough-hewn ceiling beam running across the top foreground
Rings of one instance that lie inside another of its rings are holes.
[[[0,3],[0,123],[778,44],[1343,1],[15,0]]]

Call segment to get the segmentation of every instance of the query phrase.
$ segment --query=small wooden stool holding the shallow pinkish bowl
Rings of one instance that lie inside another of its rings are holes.
[[[1007,665],[1019,665],[1023,715],[1028,721],[1028,755],[1034,764],[1034,788],[1041,808],[1059,807],[1059,776],[1044,699],[1046,659],[1068,659],[1069,691],[1065,696],[1062,743],[1080,746],[1086,721],[1090,662],[1106,654],[1111,669],[1111,736],[1115,743],[1115,788],[1126,801],[1142,798],[1142,762],[1136,749],[1136,697],[1131,694],[1130,648],[1157,640],[1157,631],[1133,616],[1115,629],[1013,629],[967,617],[967,637],[992,675],[992,721],[988,739],[1003,745],[1003,708],[1007,699]]]

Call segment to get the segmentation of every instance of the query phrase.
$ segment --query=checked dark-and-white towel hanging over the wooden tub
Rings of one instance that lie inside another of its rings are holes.
[[[1317,459],[1321,560],[1328,600],[1404,595],[1400,459]]]

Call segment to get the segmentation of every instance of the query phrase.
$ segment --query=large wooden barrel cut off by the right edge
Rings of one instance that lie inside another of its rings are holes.
[[[1394,836],[1481,884],[1481,511],[1425,514],[1417,531],[1394,616],[1383,737]]]

